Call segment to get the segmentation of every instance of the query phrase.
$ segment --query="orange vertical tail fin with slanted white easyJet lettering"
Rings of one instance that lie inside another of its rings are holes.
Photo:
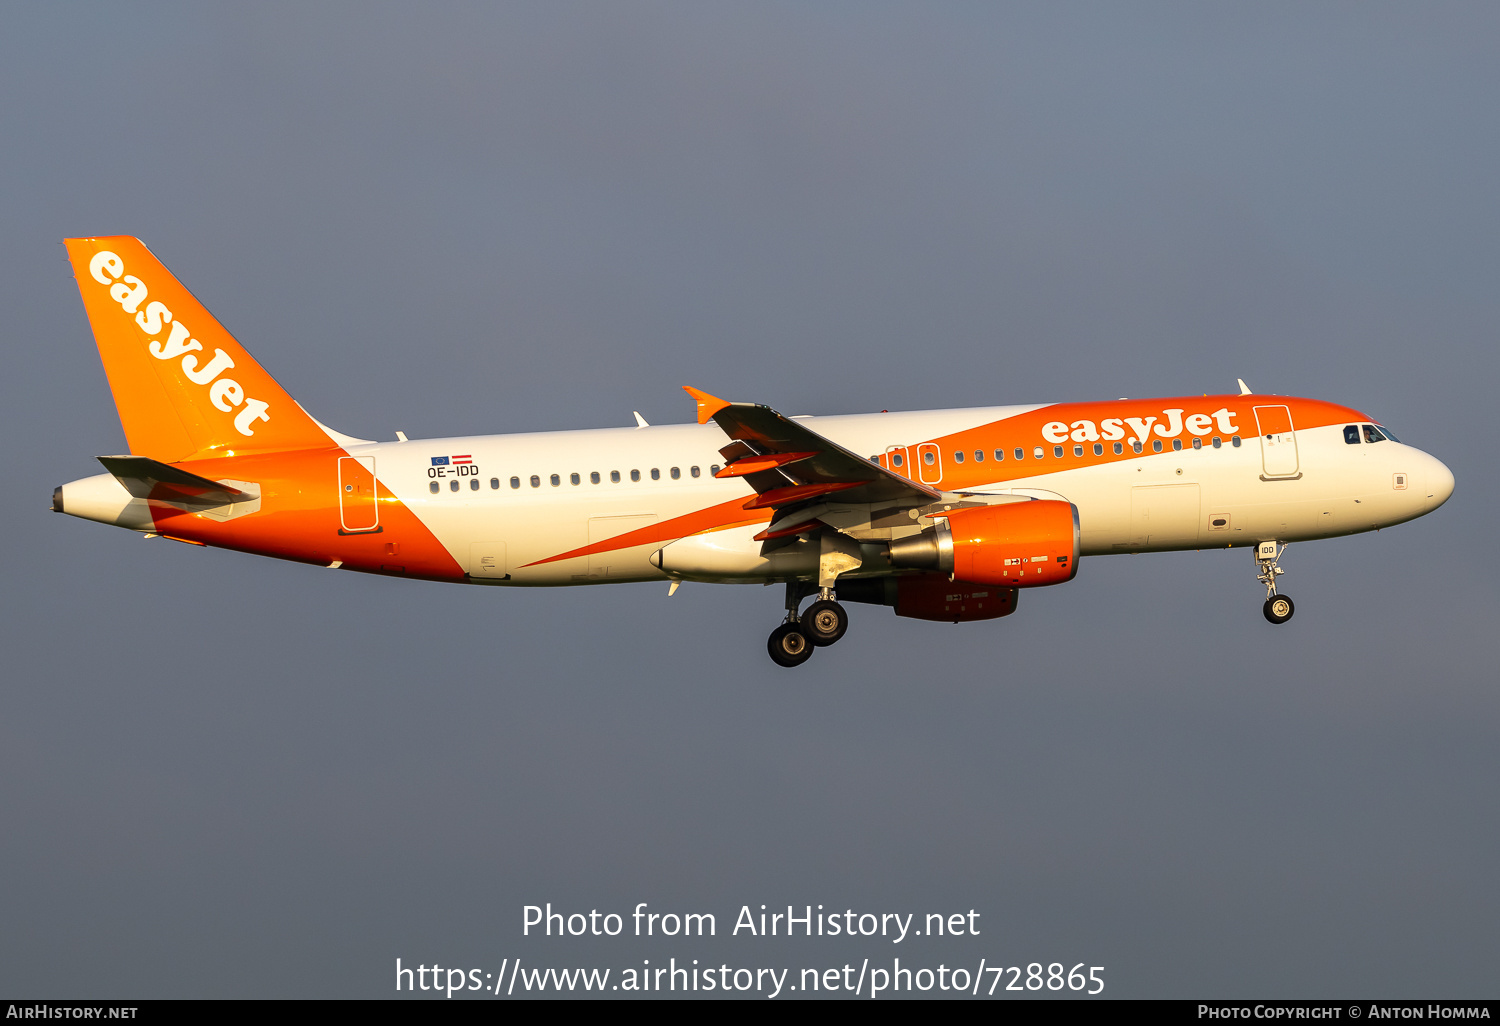
[[[130,452],[164,464],[332,438],[140,238],[68,238]]]

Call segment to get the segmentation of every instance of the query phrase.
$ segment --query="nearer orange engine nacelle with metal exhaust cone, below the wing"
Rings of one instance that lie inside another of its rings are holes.
[[[1038,588],[1078,573],[1078,508],[1059,500],[950,510],[932,530],[891,543],[896,567],[956,580]]]

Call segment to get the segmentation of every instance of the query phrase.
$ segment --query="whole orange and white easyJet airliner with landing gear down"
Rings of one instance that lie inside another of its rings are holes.
[[[140,240],[69,238],[68,255],[130,454],[57,488],[58,513],[454,584],[784,582],[782,666],[843,636],[840,598],[993,620],[1120,552],[1250,549],[1281,624],[1288,542],[1401,524],[1454,492],[1372,417],[1244,382],[850,417],[688,388],[696,424],[366,441],[314,420]]]

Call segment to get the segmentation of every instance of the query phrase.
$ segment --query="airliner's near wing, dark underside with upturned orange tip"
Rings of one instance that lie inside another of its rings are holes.
[[[840,502],[927,506],[940,494],[858,456],[770,406],[726,402],[687,388],[698,423],[712,420],[732,440],[720,448],[728,465],[716,477],[744,477],[756,490],[747,510],[783,510],[834,496]]]

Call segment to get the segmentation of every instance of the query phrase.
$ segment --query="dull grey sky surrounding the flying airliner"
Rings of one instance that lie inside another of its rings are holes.
[[[381,996],[520,906],[984,914],[1114,996],[1494,996],[1492,4],[6,4],[0,993]],[[484,591],[48,512],[123,450],[60,240],[135,234],[362,436],[1264,392],[1436,514],[1017,615]],[[908,956],[906,951],[896,954]],[[972,956],[972,958],[970,958]]]

